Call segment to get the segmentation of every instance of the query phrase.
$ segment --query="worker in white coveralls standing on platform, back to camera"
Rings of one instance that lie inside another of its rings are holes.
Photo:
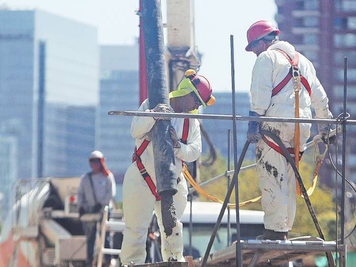
[[[250,116],[294,117],[295,101],[292,69],[300,72],[299,117],[331,118],[328,97],[315,74],[313,64],[294,46],[278,40],[279,29],[269,21],[257,21],[247,31],[246,51],[253,51],[257,60],[252,72]],[[292,66],[293,65],[293,66]],[[298,98],[297,98],[298,99]],[[295,216],[296,181],[294,172],[282,155],[281,148],[259,128],[279,137],[293,155],[294,123],[249,122],[247,139],[256,143],[256,163],[262,193],[265,234],[261,239],[286,240]],[[300,157],[310,137],[311,124],[300,123]],[[298,129],[298,128],[295,128]],[[318,125],[322,137],[328,125]],[[332,141],[332,140],[331,140]],[[297,142],[298,143],[298,142]],[[298,147],[298,146],[297,146]]]

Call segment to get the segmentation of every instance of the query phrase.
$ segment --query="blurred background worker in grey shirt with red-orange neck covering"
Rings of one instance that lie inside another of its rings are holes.
[[[98,213],[102,215],[104,207],[109,204],[109,201],[116,194],[114,176],[105,166],[103,153],[97,150],[93,151],[88,160],[92,171],[82,175],[78,188],[80,217],[88,213]],[[99,221],[101,222],[101,218]],[[92,266],[97,221],[83,221],[82,224],[86,235],[86,266]],[[109,245],[108,243],[108,236],[106,236],[106,247]],[[109,261],[110,256],[105,256],[106,261]]]

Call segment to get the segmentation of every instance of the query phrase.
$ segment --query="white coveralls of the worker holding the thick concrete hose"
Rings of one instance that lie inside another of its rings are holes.
[[[141,104],[139,111],[149,108],[148,100],[146,99]],[[172,108],[171,108],[172,109]],[[141,145],[145,138],[150,139],[150,131],[155,124],[153,117],[135,116],[131,124],[131,135],[135,138],[135,145]],[[177,137],[182,138],[184,118],[172,118],[171,125],[174,127]],[[162,256],[163,260],[168,257],[176,257],[179,261],[184,261],[183,257],[183,224],[180,219],[183,216],[184,209],[187,204],[188,187],[184,179],[182,170],[182,162],[195,161],[201,155],[201,136],[199,121],[189,119],[189,133],[187,144],[181,143],[180,148],[174,148],[175,156],[175,172],[181,181],[177,184],[178,192],[173,196],[176,219],[176,226],[173,228],[173,233],[166,237],[161,216],[161,201],[156,201],[149,186],[143,180],[142,175],[137,168],[136,161],[128,168],[124,177],[123,184],[123,209],[126,228],[124,232],[124,240],[121,250],[121,261],[123,264],[144,263],[146,257],[145,244],[147,238],[147,229],[149,228],[153,211],[158,219],[158,225],[161,231],[162,241]],[[155,164],[153,155],[152,142],[146,147],[140,156],[142,164],[150,174],[152,181],[156,183]]]

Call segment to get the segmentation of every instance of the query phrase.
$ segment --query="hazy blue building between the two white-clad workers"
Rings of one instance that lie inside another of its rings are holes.
[[[231,93],[214,93],[216,97],[216,103],[213,106],[209,106],[204,109],[205,114],[232,114],[232,98]],[[250,110],[250,97],[248,93],[236,93],[236,115],[248,116]],[[224,120],[203,120],[202,127],[209,135],[214,147],[220,152],[220,154],[227,158],[228,156],[228,129],[231,130],[231,160],[233,160],[233,130],[232,121]],[[238,155],[242,152],[242,149],[246,142],[247,122],[236,122],[236,134],[238,141]],[[203,139],[203,154],[209,151],[209,145],[206,140]],[[254,159],[253,145],[250,145],[249,150],[245,156],[246,160]]]

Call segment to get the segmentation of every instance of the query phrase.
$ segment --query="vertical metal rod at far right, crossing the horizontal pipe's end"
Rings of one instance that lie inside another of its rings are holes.
[[[346,118],[347,103],[347,57],[344,58],[344,114]],[[341,185],[341,245],[345,244],[345,179],[346,179],[346,123],[342,124],[342,185]],[[346,255],[340,258],[346,266]]]

